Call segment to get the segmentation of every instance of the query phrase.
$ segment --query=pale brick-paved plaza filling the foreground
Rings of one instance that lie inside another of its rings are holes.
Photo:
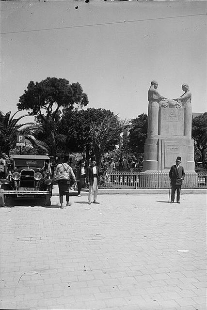
[[[1,308],[206,310],[206,195],[98,200],[0,208]]]

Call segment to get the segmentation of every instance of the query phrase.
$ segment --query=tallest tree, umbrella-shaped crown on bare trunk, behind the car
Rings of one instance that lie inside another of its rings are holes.
[[[41,82],[31,81],[27,90],[20,96],[17,104],[20,110],[29,110],[45,129],[45,135],[49,137],[50,153],[56,155],[56,122],[59,120],[60,111],[77,107],[85,107],[88,97],[79,83],[69,84],[64,78],[46,78]]]

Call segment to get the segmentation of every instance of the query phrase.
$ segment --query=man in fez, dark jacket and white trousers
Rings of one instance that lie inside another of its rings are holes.
[[[96,166],[96,158],[95,156],[92,156],[91,165],[87,168],[86,171],[86,182],[89,185],[88,204],[91,204],[93,195],[94,203],[99,203],[96,201],[98,193],[98,174],[99,169]]]

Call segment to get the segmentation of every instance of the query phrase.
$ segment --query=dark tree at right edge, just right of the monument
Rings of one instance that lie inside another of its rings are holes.
[[[204,163],[207,154],[207,112],[192,118],[192,138],[194,150],[198,150]]]

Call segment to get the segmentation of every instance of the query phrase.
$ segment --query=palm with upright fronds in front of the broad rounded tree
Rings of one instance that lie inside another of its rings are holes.
[[[118,115],[107,115],[99,124],[91,124],[90,135],[93,139],[94,154],[96,155],[98,165],[110,140],[116,139],[115,146],[117,144],[117,136],[120,137],[121,132],[129,127],[130,120],[119,120]]]

